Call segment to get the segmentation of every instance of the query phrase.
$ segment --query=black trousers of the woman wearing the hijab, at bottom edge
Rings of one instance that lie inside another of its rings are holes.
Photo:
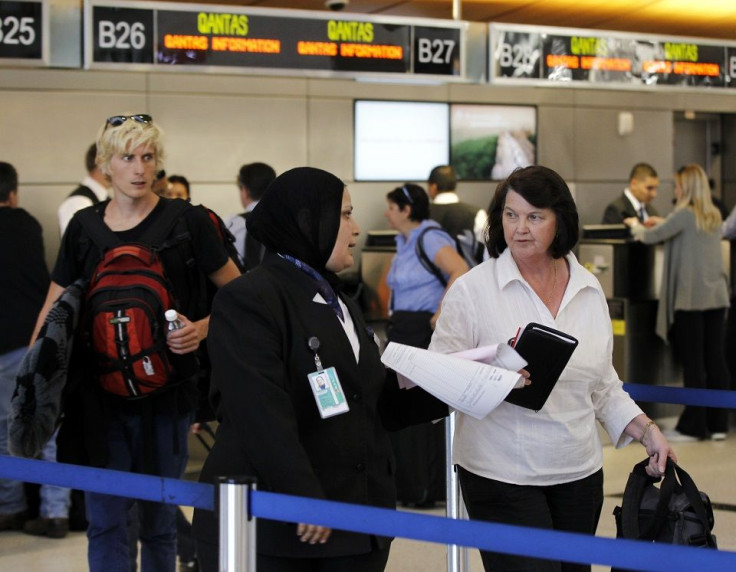
[[[366,554],[334,558],[281,558],[259,554],[256,568],[258,572],[381,572],[386,568],[390,547],[389,544]],[[201,572],[218,572],[218,558],[219,548],[215,544],[197,540],[197,561]]]

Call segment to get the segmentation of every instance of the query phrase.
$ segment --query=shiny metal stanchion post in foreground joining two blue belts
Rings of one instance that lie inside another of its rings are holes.
[[[251,477],[219,477],[220,572],[255,572],[256,521],[250,514]]]

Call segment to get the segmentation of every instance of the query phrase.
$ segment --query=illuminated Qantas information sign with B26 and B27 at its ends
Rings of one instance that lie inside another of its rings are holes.
[[[118,8],[109,0],[90,0],[87,66],[141,63],[462,75],[457,24],[427,27],[293,17],[275,10],[172,6],[130,2]]]

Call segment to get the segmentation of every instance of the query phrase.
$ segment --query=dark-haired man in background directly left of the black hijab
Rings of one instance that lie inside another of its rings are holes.
[[[268,185],[276,178],[276,171],[265,163],[247,163],[238,172],[238,190],[240,202],[245,211],[233,215],[226,221],[227,228],[235,237],[235,248],[238,250],[243,271],[252,270],[263,259],[263,245],[248,235],[246,222],[251,211],[266,192]]]

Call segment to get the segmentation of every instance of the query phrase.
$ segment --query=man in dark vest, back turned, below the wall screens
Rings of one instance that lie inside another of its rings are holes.
[[[482,242],[488,214],[483,209],[461,202],[455,192],[456,187],[457,173],[454,167],[440,165],[432,169],[427,180],[427,193],[432,200],[429,218],[440,223],[453,238],[468,229]]]

